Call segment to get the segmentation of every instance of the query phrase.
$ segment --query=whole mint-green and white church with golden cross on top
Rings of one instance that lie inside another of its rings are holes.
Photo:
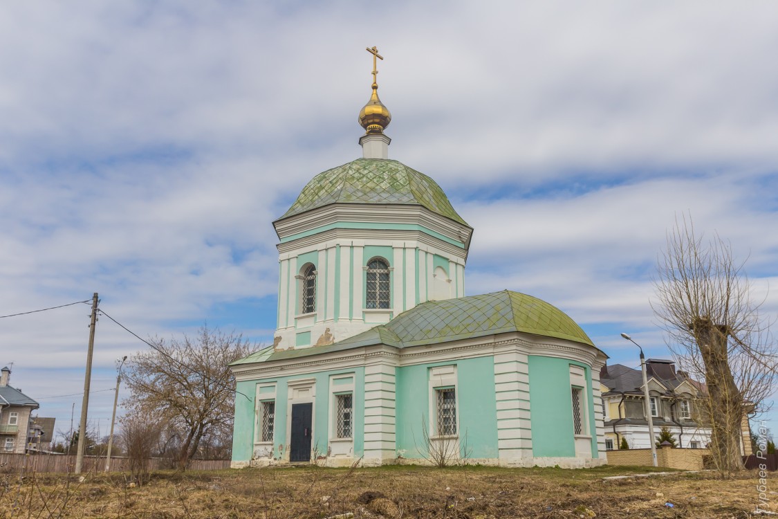
[[[601,352],[524,293],[466,296],[473,233],[432,178],[388,158],[391,114],[359,114],[363,157],[316,175],[273,225],[278,323],[231,365],[233,467],[605,463]]]

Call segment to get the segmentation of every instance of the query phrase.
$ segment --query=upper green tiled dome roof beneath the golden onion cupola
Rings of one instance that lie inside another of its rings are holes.
[[[317,174],[281,219],[338,203],[422,205],[467,225],[433,179],[387,159],[357,159]]]

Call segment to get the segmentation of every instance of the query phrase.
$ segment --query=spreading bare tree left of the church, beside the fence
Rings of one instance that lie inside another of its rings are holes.
[[[234,379],[228,364],[251,353],[241,335],[200,328],[183,340],[154,339],[152,351],[138,352],[124,377],[131,392],[124,401],[131,414],[161,416],[177,438],[178,467],[184,470],[203,437],[230,435]],[[223,439],[226,441],[226,438]]]

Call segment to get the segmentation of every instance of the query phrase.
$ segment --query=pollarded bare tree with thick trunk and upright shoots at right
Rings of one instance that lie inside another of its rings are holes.
[[[676,219],[658,261],[652,303],[678,365],[705,380],[703,409],[696,411],[710,425],[713,464],[724,474],[743,466],[742,419],[763,410],[778,359],[772,321],[759,313],[743,265],[729,243],[717,235],[703,242],[691,219]]]

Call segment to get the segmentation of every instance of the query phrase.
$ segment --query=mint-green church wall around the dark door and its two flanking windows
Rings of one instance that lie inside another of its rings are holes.
[[[235,398],[235,424],[233,428],[233,461],[251,460],[254,450],[254,398],[258,384],[275,383],[275,426],[273,428],[274,457],[279,456],[279,446],[286,447],[286,416],[289,409],[289,380],[314,377],[316,397],[314,398],[314,438],[311,447],[324,455],[330,437],[329,407],[331,405],[329,379],[331,375],[353,373],[354,375],[354,456],[363,455],[365,423],[365,370],[358,367],[349,370],[328,370],[295,377],[275,377],[247,380],[237,384],[237,391],[248,395],[251,402],[242,395]]]

